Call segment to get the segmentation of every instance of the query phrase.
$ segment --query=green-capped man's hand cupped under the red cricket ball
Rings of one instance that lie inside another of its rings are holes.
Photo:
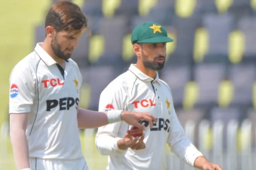
[[[134,150],[140,150],[144,149],[146,147],[144,143],[144,134],[139,138],[139,137],[133,137],[130,134],[130,131],[128,130],[127,133],[125,134],[124,138],[119,140],[117,142],[117,146],[120,149],[126,150],[128,148],[134,149]]]

